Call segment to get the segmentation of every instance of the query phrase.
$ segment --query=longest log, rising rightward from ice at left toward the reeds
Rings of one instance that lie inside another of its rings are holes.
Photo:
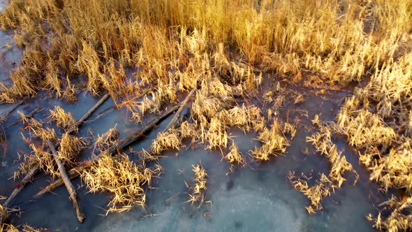
[[[117,150],[124,150],[126,147],[134,143],[136,140],[139,138],[142,138],[145,136],[145,134],[150,131],[154,126],[159,124],[163,119],[168,117],[171,113],[179,109],[179,106],[177,105],[174,108],[168,110],[167,112],[163,113],[160,117],[157,117],[156,119],[152,120],[147,126],[144,128],[136,131],[135,133],[132,133],[131,135],[127,136],[126,138],[123,138],[122,140],[119,141],[117,145],[113,145],[108,148],[108,150],[105,151],[105,154],[114,154]],[[80,176],[80,173],[84,171],[84,169],[89,168],[91,164],[94,163],[99,157],[95,157],[94,159],[91,159],[90,161],[83,162],[80,164],[80,166],[77,166],[73,168],[71,171],[68,172],[68,178],[70,180],[73,180],[76,177]],[[61,186],[64,184],[63,180],[60,178],[59,180],[55,180],[54,182],[50,183],[47,185],[47,187],[43,188],[41,191],[39,191],[36,195],[34,195],[35,198],[38,198],[40,196],[43,196],[43,194],[47,193],[48,191],[53,191],[57,187]]]

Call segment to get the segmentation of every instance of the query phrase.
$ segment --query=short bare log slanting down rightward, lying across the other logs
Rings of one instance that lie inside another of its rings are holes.
[[[73,184],[71,183],[70,179],[67,176],[66,168],[64,168],[64,165],[61,163],[59,157],[57,157],[56,148],[54,147],[54,144],[52,143],[52,141],[47,140],[47,145],[52,151],[54,161],[56,162],[57,167],[59,168],[61,179],[64,181],[64,185],[66,185],[66,189],[70,196],[71,202],[73,203],[73,207],[75,208],[76,215],[78,216],[78,220],[79,222],[83,222],[84,215],[80,210],[80,206],[79,206],[78,199],[77,199],[78,194],[76,194],[75,187],[73,186]]]

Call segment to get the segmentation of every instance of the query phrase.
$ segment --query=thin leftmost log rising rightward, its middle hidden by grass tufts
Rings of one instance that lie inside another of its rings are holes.
[[[84,124],[84,122],[86,121],[86,119],[88,118],[88,117],[90,117],[90,115],[92,114],[92,113],[94,113],[94,111],[96,111],[96,109],[99,107],[99,106],[101,106],[104,102],[105,102],[105,100],[107,100],[108,99],[108,94],[105,94],[105,96],[103,96],[102,97],[102,99],[100,100],[100,101],[98,101],[97,103],[96,103],[96,105],[94,105],[77,123],[76,123],[76,125],[78,126],[78,128],[80,128],[80,126],[82,126],[83,124]],[[103,101],[102,101],[103,100]],[[73,130],[71,130],[71,133],[73,133],[73,132],[75,132],[76,130],[75,129],[73,129]],[[57,147],[57,146],[55,146],[55,147]],[[23,187],[28,183],[28,182],[30,182],[30,180],[31,179],[33,179],[33,177],[34,177],[34,175],[36,175],[36,173],[38,172],[38,169],[40,168],[40,166],[39,165],[35,165],[35,166],[33,166],[31,169],[30,169],[30,171],[24,176],[24,178],[23,178],[23,180],[19,183],[19,184],[17,184],[17,187],[15,188],[15,189],[13,189],[13,192],[10,194],[10,196],[7,198],[7,200],[6,200],[6,203],[4,203],[3,204],[3,206],[7,206],[7,205],[9,205],[13,200],[14,200],[14,198],[17,196],[17,194],[19,194],[20,193],[20,191],[22,191],[22,189],[23,189]],[[1,222],[2,223],[2,222]]]

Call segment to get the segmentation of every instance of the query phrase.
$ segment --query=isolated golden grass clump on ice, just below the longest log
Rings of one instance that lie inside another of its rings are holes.
[[[81,173],[91,193],[107,191],[112,195],[109,212],[125,212],[134,205],[145,208],[145,186],[152,183],[153,171],[136,166],[126,154],[103,154],[89,170]],[[127,184],[126,184],[127,183]]]

